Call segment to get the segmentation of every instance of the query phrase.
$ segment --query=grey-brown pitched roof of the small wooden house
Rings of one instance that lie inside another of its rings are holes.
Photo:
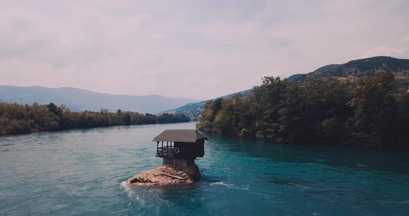
[[[153,141],[194,143],[198,139],[207,140],[207,137],[195,129],[166,129],[162,134],[156,136]]]

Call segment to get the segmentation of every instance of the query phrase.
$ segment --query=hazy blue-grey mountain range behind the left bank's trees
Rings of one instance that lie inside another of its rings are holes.
[[[186,103],[198,102],[191,98],[167,98],[159,95],[127,96],[97,93],[76,88],[46,87],[12,87],[0,85],[0,101],[17,102],[19,104],[64,104],[72,111],[99,111],[101,108],[110,111],[122,109],[140,113],[156,114],[165,109],[174,109]]]

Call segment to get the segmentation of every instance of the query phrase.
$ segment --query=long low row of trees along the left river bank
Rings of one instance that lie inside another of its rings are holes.
[[[132,111],[70,111],[65,105],[19,105],[0,102],[0,136],[52,132],[64,129],[107,127],[114,125],[148,125],[185,123],[184,114],[139,114]]]

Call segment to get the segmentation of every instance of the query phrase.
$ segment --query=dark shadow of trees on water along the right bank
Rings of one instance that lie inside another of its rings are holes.
[[[324,145],[277,144],[247,138],[204,133],[211,149],[226,154],[267,158],[275,163],[322,164],[350,170],[370,170],[409,174],[407,152],[381,152]],[[394,161],[393,164],[390,161]]]

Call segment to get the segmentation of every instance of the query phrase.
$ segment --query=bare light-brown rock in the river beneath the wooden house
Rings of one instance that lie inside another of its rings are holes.
[[[128,179],[131,186],[172,186],[178,184],[191,184],[200,179],[198,165],[189,165],[188,168],[177,169],[168,165],[141,172]]]

